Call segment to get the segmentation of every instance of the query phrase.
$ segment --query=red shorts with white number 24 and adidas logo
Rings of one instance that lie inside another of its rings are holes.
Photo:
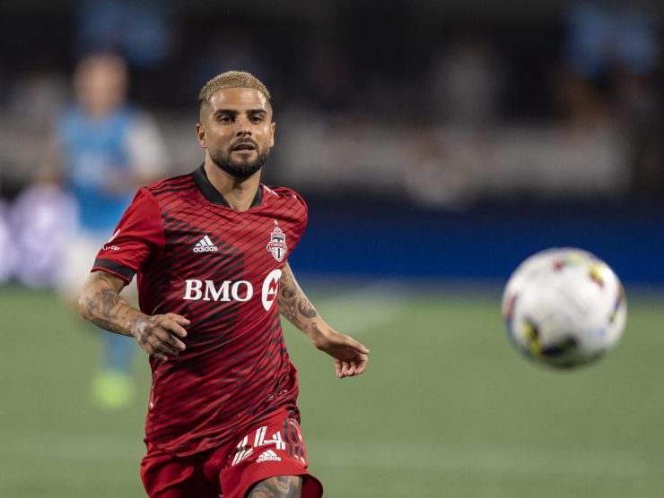
[[[240,434],[235,442],[186,457],[148,443],[141,463],[141,478],[151,498],[244,498],[251,486],[275,476],[301,476],[302,498],[323,495],[323,486],[307,471],[300,424],[287,410]]]

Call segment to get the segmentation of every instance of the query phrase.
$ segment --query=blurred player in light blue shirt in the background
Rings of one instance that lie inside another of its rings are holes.
[[[117,55],[83,58],[74,72],[75,103],[57,120],[41,182],[60,180],[79,212],[76,236],[63,255],[60,287],[77,298],[101,246],[112,236],[137,187],[162,173],[167,155],[153,119],[127,104],[127,66]],[[111,237],[112,238],[112,237]],[[128,297],[135,296],[135,285]],[[132,339],[103,334],[105,358],[92,383],[102,407],[119,407],[133,396]]]

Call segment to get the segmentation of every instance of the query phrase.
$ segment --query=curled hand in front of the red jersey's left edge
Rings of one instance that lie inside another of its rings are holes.
[[[189,323],[179,314],[155,314],[138,320],[131,332],[148,355],[166,361],[184,351],[185,345],[178,338],[187,337],[184,327]]]

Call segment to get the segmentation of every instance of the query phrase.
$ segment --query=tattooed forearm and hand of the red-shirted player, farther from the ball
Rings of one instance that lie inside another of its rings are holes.
[[[123,279],[105,271],[92,271],[78,299],[83,318],[106,331],[134,337],[148,355],[162,360],[178,356],[185,348],[178,338],[187,336],[183,327],[188,319],[175,313],[141,313],[120,296],[125,285]]]

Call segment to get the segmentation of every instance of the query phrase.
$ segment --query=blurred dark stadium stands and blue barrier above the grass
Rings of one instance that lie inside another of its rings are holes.
[[[77,57],[112,49],[135,103],[159,116],[173,174],[203,158],[207,79],[246,69],[273,90],[265,181],[310,202],[298,270],[502,280],[529,253],[576,245],[625,282],[661,286],[663,13],[634,1],[3,2],[0,214],[10,223],[43,160]],[[12,233],[0,229],[6,264],[20,259]]]

